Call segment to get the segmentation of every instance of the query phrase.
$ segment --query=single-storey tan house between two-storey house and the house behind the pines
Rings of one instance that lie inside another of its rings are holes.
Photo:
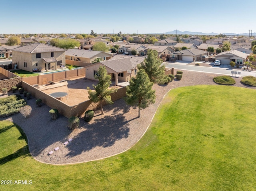
[[[102,61],[109,60],[112,58],[112,55],[103,51],[68,49],[65,52],[65,58],[66,60],[92,63],[92,61],[94,61],[96,58],[101,58]]]

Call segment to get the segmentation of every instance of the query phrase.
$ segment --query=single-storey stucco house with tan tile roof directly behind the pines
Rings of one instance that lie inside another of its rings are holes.
[[[86,78],[95,80],[100,66],[105,66],[108,75],[111,75],[111,81],[114,84],[127,82],[131,77],[137,75],[137,65],[144,61],[145,57],[132,55],[115,55],[108,61],[101,61],[86,67]]]

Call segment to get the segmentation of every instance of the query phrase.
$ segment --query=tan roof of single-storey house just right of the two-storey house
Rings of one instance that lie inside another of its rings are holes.
[[[68,56],[77,56],[82,58],[93,58],[97,56],[99,53],[102,53],[102,51],[93,51],[93,50],[84,50],[84,49],[68,49],[65,54]],[[106,53],[106,52],[104,52]],[[108,53],[106,53],[108,54]],[[110,55],[110,54],[109,54]],[[112,55],[110,55],[112,56]]]

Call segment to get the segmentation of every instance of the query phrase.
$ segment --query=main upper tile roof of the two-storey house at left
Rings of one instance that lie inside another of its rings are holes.
[[[13,51],[27,52],[27,53],[42,53],[42,52],[58,52],[65,51],[66,49],[44,43],[32,43],[18,48],[12,49]]]

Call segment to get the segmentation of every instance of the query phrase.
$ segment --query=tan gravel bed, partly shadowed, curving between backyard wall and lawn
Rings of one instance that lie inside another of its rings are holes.
[[[141,111],[138,108],[126,106],[123,99],[112,105],[104,106],[104,115],[100,110],[94,112],[94,118],[89,123],[80,119],[80,126],[74,131],[68,129],[68,119],[60,116],[51,120],[47,105],[36,107],[35,98],[28,100],[32,114],[25,119],[21,114],[0,120],[10,120],[18,124],[28,137],[30,153],[38,161],[51,164],[79,163],[106,158],[132,147],[147,130],[156,109],[164,95],[173,88],[191,85],[216,85],[212,80],[217,76],[210,73],[183,71],[180,81],[172,81],[168,85],[154,85],[156,102]],[[241,77],[234,78],[234,86],[247,87],[240,83]],[[249,87],[256,89],[256,87]],[[69,139],[73,141],[64,145]],[[59,147],[59,150],[54,151]],[[50,151],[53,154],[48,155]]]

